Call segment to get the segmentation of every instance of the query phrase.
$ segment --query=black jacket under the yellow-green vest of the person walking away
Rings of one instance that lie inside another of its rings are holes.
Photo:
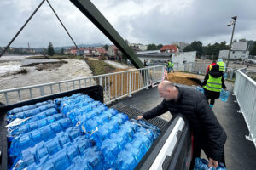
[[[207,75],[205,76],[205,80],[204,82],[201,83],[201,86],[205,86],[207,84],[207,80],[209,79],[209,74],[212,77],[218,78],[218,77],[222,77],[221,78],[221,82],[222,82],[222,88],[226,88],[225,86],[225,80],[223,77],[223,71],[219,71],[219,66],[218,65],[213,65],[212,66],[212,70],[207,72]],[[211,90],[207,90],[206,88],[204,88],[205,91],[205,95],[208,99],[218,99],[219,98],[219,92],[213,92]]]

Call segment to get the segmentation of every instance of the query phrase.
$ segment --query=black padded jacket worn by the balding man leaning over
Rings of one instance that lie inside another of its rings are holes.
[[[195,139],[203,139],[203,150],[213,160],[220,161],[224,156],[224,143],[227,139],[224,128],[219,124],[204,94],[191,88],[177,87],[177,100],[165,99],[154,109],[143,114],[151,119],[170,111],[172,116],[181,113],[189,121]]]

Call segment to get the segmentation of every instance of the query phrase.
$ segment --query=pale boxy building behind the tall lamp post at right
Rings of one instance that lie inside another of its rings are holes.
[[[248,42],[233,42],[230,50],[230,59],[248,59]],[[218,58],[228,59],[229,50],[220,50]]]

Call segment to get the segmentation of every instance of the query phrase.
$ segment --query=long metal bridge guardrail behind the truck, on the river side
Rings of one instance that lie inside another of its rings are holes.
[[[119,71],[93,77],[84,77],[61,82],[50,82],[22,88],[0,90],[0,102],[3,104],[17,103],[26,99],[34,99],[49,94],[101,85],[104,93],[104,102],[109,104],[116,99],[136,93],[148,88],[150,83],[161,81],[164,65],[149,66],[131,71]]]

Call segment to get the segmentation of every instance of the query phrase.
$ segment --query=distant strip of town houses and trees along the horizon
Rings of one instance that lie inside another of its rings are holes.
[[[230,48],[229,45],[226,45],[226,42],[216,42],[212,45],[208,44],[207,46],[202,46],[200,41],[195,41],[190,44],[186,42],[173,42],[172,44],[166,45],[156,45],[154,43],[143,45],[141,43],[130,43],[127,40],[125,40],[125,42],[134,53],[145,59],[150,59],[154,56],[160,58],[171,57],[174,54],[185,54],[185,52],[195,52],[195,58],[218,59],[221,57],[227,59]],[[48,48],[30,48],[28,44],[27,48],[9,48],[5,54],[62,54],[108,59],[126,59],[119,48],[114,45],[85,46],[86,45],[84,45],[84,47],[79,45],[78,48],[75,46],[54,48],[53,44],[49,42]],[[0,52],[2,52],[3,49],[4,47],[0,47]],[[230,59],[255,59],[256,42],[247,41],[246,39],[235,40],[232,42],[230,51]],[[183,63],[185,62],[187,61],[183,61]]]

